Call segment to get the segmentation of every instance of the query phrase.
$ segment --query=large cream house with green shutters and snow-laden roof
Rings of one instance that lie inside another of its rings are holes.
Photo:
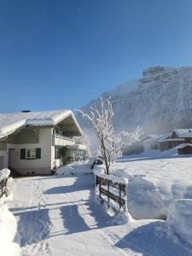
[[[70,110],[0,113],[0,169],[49,174],[77,154],[84,158],[84,146],[73,140],[81,135]]]

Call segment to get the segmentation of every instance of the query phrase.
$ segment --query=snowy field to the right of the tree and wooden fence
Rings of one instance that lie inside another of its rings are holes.
[[[127,155],[116,160],[113,174],[128,177],[128,207],[131,216],[166,218],[174,199],[192,199],[192,155],[172,149]]]

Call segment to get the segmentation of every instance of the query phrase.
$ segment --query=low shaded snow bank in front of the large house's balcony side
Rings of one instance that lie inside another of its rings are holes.
[[[61,166],[55,172],[55,175],[79,175],[79,174],[93,174],[90,169],[89,161],[73,162],[67,166]]]

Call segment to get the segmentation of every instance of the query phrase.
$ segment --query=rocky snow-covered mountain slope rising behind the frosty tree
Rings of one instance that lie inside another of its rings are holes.
[[[192,67],[151,67],[141,79],[119,85],[102,94],[112,96],[113,123],[116,130],[143,126],[145,132],[166,132],[173,128],[192,127]],[[89,112],[99,98],[82,110]],[[87,131],[90,124],[77,114],[79,124]]]

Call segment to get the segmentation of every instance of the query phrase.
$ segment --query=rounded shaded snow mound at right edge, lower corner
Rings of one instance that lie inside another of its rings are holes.
[[[166,231],[173,241],[192,246],[192,200],[172,201],[166,219]]]

